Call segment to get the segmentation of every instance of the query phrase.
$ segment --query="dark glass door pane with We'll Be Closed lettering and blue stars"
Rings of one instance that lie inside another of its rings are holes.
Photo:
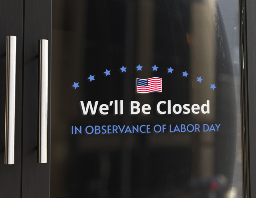
[[[52,1],[50,197],[243,197],[239,2]]]

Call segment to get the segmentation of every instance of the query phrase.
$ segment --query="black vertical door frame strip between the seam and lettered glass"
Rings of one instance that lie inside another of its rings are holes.
[[[52,0],[24,2],[23,145],[21,197],[50,197]],[[39,40],[48,40],[47,163],[37,163]]]

